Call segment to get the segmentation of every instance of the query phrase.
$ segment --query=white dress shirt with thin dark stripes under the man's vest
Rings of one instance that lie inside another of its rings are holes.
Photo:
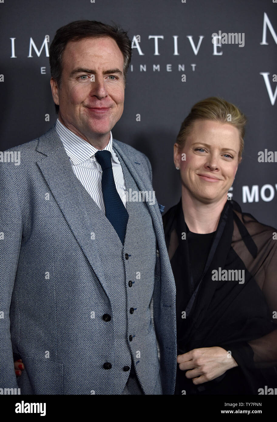
[[[71,130],[67,129],[59,119],[56,120],[55,127],[56,132],[65,147],[65,151],[70,158],[76,177],[105,214],[105,203],[101,184],[102,168],[95,158],[95,154],[99,150],[84,139],[75,135]],[[126,186],[121,164],[113,150],[113,136],[111,132],[108,145],[105,146],[104,149],[108,149],[111,153],[113,178],[116,184],[116,190],[126,208]]]

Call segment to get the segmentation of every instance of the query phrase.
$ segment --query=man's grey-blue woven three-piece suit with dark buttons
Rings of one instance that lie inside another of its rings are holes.
[[[113,148],[127,191],[153,191],[148,158]],[[133,360],[145,394],[173,394],[175,282],[159,204],[127,201],[122,246],[55,126],[9,151],[21,164],[0,163],[0,388],[121,394]],[[13,352],[25,365],[17,378]]]

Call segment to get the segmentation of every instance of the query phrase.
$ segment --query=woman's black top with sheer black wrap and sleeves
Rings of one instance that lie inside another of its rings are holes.
[[[175,394],[259,394],[266,385],[276,388],[277,230],[230,200],[209,235],[189,232],[181,201],[163,222],[177,291],[178,354],[220,346],[238,364],[198,386],[177,365]]]

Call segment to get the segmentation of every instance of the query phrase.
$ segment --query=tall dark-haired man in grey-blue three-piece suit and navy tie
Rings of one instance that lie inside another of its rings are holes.
[[[174,394],[175,282],[151,165],[111,133],[131,51],[117,27],[60,28],[49,56],[59,118],[8,150],[20,165],[0,163],[0,388]]]

